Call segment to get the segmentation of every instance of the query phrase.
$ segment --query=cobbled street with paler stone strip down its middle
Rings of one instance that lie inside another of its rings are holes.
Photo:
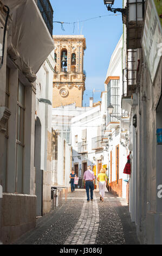
[[[14,244],[26,245],[123,245],[139,244],[126,201],[111,193],[100,201],[95,191],[87,202],[86,191],[68,193],[60,208],[38,218],[34,230]]]

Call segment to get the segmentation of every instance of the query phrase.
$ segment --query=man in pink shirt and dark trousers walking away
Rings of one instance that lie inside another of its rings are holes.
[[[86,193],[87,193],[87,202],[89,202],[89,189],[90,189],[90,200],[93,200],[93,189],[95,181],[94,172],[91,170],[91,166],[88,166],[86,172],[83,176],[84,184],[86,182]]]

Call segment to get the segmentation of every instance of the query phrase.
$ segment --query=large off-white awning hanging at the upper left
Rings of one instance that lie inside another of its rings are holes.
[[[34,0],[2,0],[10,8],[8,52],[24,73],[34,73],[54,49],[54,41]]]

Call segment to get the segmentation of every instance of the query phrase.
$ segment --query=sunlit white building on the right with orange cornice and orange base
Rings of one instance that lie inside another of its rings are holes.
[[[121,111],[122,96],[122,36],[112,54],[105,80],[106,107],[102,145],[108,152],[107,168],[109,173],[109,190],[116,196],[126,198],[128,179],[123,173],[127,162],[128,131],[123,124],[128,122],[128,113]],[[108,107],[113,106],[113,113],[109,114]],[[104,113],[104,111],[103,111]]]

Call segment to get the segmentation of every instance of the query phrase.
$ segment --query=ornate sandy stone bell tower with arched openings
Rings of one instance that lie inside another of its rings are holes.
[[[82,107],[86,72],[83,56],[86,39],[83,35],[53,35],[55,42],[55,71],[53,79],[53,107],[76,103]]]

